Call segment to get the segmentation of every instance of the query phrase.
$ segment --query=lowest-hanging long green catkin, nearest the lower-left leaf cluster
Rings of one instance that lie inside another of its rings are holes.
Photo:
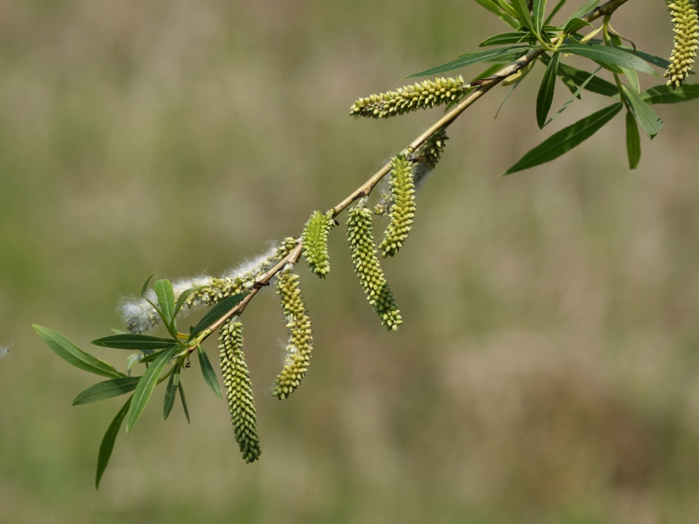
[[[245,462],[251,463],[259,458],[261,449],[257,436],[257,411],[252,398],[252,382],[243,353],[243,324],[237,318],[226,321],[221,326],[218,344],[221,373],[236,442]]]

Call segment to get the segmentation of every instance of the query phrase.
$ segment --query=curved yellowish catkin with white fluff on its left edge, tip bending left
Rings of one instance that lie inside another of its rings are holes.
[[[312,333],[310,318],[306,312],[301,289],[298,287],[298,275],[291,272],[291,264],[277,275],[277,293],[282,298],[284,317],[289,330],[289,345],[284,367],[277,375],[272,387],[272,395],[279,400],[287,398],[305,377],[312,351]]]

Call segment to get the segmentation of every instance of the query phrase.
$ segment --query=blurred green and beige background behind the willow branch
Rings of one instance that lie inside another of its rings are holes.
[[[669,56],[663,2],[614,27]],[[463,0],[0,1],[0,522],[699,522],[699,108],[655,106],[638,170],[620,115],[499,177],[608,103],[585,94],[538,133],[540,66],[497,120],[507,88],[450,129],[384,263],[399,333],[338,228],[329,279],[301,273],[315,356],[289,400],[268,394],[278,298],[245,314],[259,463],[195,364],[192,425],[179,405],[162,421],[159,389],[94,490],[122,399],[71,407],[99,377],[30,323],[87,349],[150,272],[219,275],[298,234],[441,114],[353,121],[354,99],[504,30]]]

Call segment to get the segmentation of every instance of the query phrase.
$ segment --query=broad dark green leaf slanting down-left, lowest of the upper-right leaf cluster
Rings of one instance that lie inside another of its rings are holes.
[[[521,157],[517,163],[510,169],[505,171],[505,175],[516,173],[534,166],[539,166],[542,163],[552,161],[560,157],[562,154],[572,150],[573,147],[587,140],[597,131],[599,131],[607,122],[609,122],[617,113],[624,107],[622,103],[612,104],[602,110],[594,112],[589,117],[561,129],[557,133],[544,140],[533,150],[529,151],[524,157]]]

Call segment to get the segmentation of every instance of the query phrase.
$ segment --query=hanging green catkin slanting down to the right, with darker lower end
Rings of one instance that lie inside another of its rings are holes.
[[[347,240],[352,251],[352,263],[366,298],[381,323],[389,330],[396,331],[403,319],[376,256],[371,217],[371,211],[364,207],[362,201],[347,212]]]

